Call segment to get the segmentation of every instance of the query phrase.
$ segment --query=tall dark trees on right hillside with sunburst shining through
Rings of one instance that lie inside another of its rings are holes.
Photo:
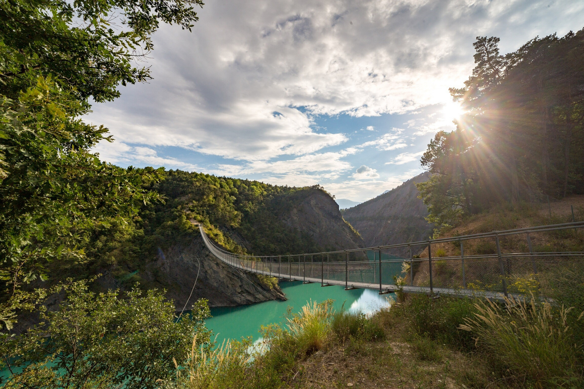
[[[438,226],[492,206],[584,194],[584,30],[533,38],[499,53],[478,37],[475,68],[451,88],[465,111],[422,157],[418,185]]]

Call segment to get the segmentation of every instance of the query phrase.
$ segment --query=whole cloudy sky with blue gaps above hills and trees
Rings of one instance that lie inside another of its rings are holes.
[[[419,174],[454,128],[448,88],[470,75],[476,36],[516,50],[582,29],[584,2],[211,0],[199,16],[155,34],[151,82],[94,104],[86,120],[116,138],[102,159],[364,201]]]

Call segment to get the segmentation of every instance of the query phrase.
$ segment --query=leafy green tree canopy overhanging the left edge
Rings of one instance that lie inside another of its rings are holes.
[[[190,30],[201,0],[7,0],[0,8],[0,307],[6,328],[23,282],[86,261],[86,231],[130,226],[160,199],[161,170],[121,169],[91,148],[112,141],[80,119],[89,99],[150,78],[135,65],[160,22]],[[59,268],[58,266],[56,268]],[[12,299],[12,300],[11,300]],[[16,299],[16,300],[14,300]]]

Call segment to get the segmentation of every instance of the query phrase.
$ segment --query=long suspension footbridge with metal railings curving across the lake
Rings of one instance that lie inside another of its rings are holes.
[[[533,238],[542,233],[579,237],[584,222],[562,223],[495,231],[490,233],[431,239],[388,246],[353,248],[290,255],[243,255],[230,253],[215,244],[199,225],[208,250],[226,264],[247,272],[281,280],[341,285],[345,289],[366,288],[380,294],[402,290],[430,296],[456,295],[501,300],[510,295],[544,292],[541,275],[559,274],[584,265],[584,252],[534,250]],[[523,246],[524,252],[504,253],[505,246]],[[450,245],[450,247],[448,247]],[[454,247],[453,247],[454,246]],[[409,248],[409,258],[391,255],[395,248]],[[475,253],[465,255],[472,247]],[[446,250],[450,248],[450,250]],[[456,249],[456,250],[453,250]],[[447,251],[460,255],[447,256]],[[412,255],[423,251],[424,258]],[[545,295],[545,293],[540,293]]]

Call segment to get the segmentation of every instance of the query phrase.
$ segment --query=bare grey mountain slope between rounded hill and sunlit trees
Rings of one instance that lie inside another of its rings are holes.
[[[414,184],[429,178],[430,173],[413,177],[391,191],[344,210],[343,218],[361,234],[367,247],[425,240],[434,225],[425,220],[428,211]],[[392,254],[406,257],[409,252],[404,248]]]

